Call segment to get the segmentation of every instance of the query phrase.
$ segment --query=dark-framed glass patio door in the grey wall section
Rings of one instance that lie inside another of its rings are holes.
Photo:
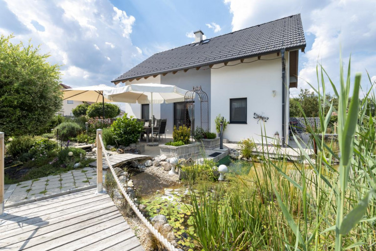
[[[174,126],[186,125],[194,130],[194,102],[174,103]]]

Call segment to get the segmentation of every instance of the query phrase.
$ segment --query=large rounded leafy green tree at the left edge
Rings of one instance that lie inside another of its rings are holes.
[[[62,106],[60,71],[48,54],[0,36],[0,131],[7,135],[35,134]]]

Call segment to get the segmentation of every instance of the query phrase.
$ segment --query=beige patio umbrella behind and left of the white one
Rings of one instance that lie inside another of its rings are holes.
[[[103,118],[104,118],[104,102],[113,102],[104,98],[103,91],[116,89],[106,85],[83,86],[71,89],[62,89],[64,95],[63,100],[100,102],[102,101]]]

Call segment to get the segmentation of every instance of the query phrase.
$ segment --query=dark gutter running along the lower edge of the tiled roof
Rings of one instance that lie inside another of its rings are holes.
[[[293,47],[286,48],[286,50],[295,50],[295,49],[302,49],[302,50],[304,50],[305,46],[293,46]],[[264,55],[269,55],[269,54],[279,53],[279,52],[281,52],[281,50],[273,50],[273,51],[268,51],[268,52],[265,52],[265,53],[254,54],[254,55],[250,55],[250,56],[246,56],[246,57],[237,57],[237,58],[231,58],[231,59],[225,59],[225,60],[221,60],[221,61],[216,61],[216,62],[212,62],[212,63],[209,63],[209,64],[205,63],[205,64],[202,64],[202,65],[190,66],[188,68],[187,67],[173,68],[173,69],[169,69],[167,71],[162,71],[162,72],[154,72],[154,73],[149,73],[149,74],[139,75],[139,76],[134,76],[134,77],[128,77],[128,78],[123,78],[123,79],[115,79],[115,80],[112,80],[111,82],[112,83],[116,83],[116,82],[123,82],[124,83],[125,81],[128,81],[130,79],[150,77],[150,76],[159,75],[159,74],[167,74],[167,73],[173,72],[173,71],[179,71],[179,70],[192,69],[192,68],[197,68],[197,67],[216,65],[216,64],[225,63],[225,62],[228,62],[228,61],[236,61],[236,60],[240,60],[240,59],[254,58],[254,57],[258,57],[258,56],[264,56]]]

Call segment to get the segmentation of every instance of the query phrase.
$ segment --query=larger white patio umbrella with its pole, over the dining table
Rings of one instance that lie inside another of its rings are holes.
[[[162,84],[131,84],[124,87],[119,87],[112,90],[104,91],[104,96],[114,102],[127,102],[131,100],[137,101],[139,104],[151,105],[152,129],[151,134],[154,134],[153,127],[153,104],[174,103],[184,101],[186,90],[173,85]],[[136,94],[136,95],[135,95]],[[137,96],[138,95],[138,96]],[[152,143],[154,138],[152,137]]]

